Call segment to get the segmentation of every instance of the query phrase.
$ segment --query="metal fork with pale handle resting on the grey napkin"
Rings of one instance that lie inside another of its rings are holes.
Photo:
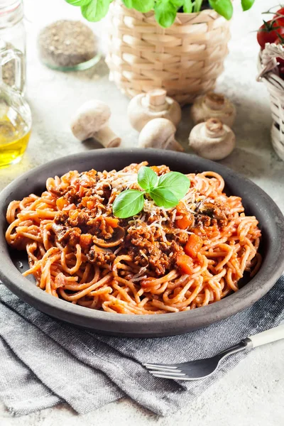
[[[197,359],[195,361],[182,362],[181,364],[143,364],[143,366],[146,366],[155,377],[172,378],[174,380],[199,380],[200,378],[211,376],[217,370],[220,361],[226,356],[280,339],[284,339],[284,324],[266,332],[247,337],[211,358]]]

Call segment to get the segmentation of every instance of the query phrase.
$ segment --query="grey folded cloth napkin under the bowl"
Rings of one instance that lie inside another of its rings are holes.
[[[168,314],[170,315],[170,314]],[[284,277],[248,309],[175,337],[108,337],[53,320],[0,284],[0,400],[13,415],[62,401],[87,413],[125,395],[158,415],[190,403],[246,356],[222,361],[200,381],[155,378],[145,362],[177,363],[212,356],[284,320]]]

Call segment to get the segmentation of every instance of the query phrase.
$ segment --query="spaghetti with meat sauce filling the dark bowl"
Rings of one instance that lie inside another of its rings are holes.
[[[69,173],[7,209],[6,241],[26,250],[36,284],[50,295],[96,310],[162,314],[192,310],[238,290],[261,265],[261,231],[241,198],[226,196],[217,173],[189,174],[178,206],[146,197],[141,213],[117,219],[112,204],[141,189],[141,164],[116,172]],[[153,166],[157,175],[170,170]]]

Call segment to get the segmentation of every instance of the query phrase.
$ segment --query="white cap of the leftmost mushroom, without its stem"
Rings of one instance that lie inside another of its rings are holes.
[[[96,99],[87,101],[77,109],[72,118],[72,133],[80,141],[91,138],[107,124],[110,116],[111,110],[104,102]]]

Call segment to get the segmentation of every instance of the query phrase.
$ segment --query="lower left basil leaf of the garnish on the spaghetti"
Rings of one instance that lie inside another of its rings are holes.
[[[126,190],[121,192],[112,206],[114,216],[125,219],[126,217],[134,216],[143,209],[144,192],[136,190]]]

